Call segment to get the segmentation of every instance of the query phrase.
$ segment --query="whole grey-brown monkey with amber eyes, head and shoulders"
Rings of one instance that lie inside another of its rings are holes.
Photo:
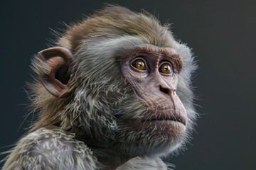
[[[191,49],[168,23],[107,5],[33,57],[38,118],[3,169],[169,169],[197,113]]]

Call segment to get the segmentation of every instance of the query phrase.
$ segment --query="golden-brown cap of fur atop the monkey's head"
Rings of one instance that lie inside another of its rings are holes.
[[[75,51],[87,36],[105,36],[106,38],[134,35],[145,43],[161,47],[171,46],[174,38],[169,25],[161,26],[149,13],[135,13],[122,6],[107,6],[82,22],[68,27],[59,44],[68,45]]]

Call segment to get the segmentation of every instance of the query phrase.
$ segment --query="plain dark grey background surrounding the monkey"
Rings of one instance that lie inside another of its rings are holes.
[[[53,38],[49,28],[102,8],[103,1],[0,1],[0,152],[18,141],[32,120],[23,87],[33,54]],[[255,1],[108,1],[159,13],[197,56],[198,119],[176,169],[255,169]],[[24,120],[24,122],[23,122]],[[19,129],[19,127],[21,128]],[[3,158],[1,156],[1,158]]]

